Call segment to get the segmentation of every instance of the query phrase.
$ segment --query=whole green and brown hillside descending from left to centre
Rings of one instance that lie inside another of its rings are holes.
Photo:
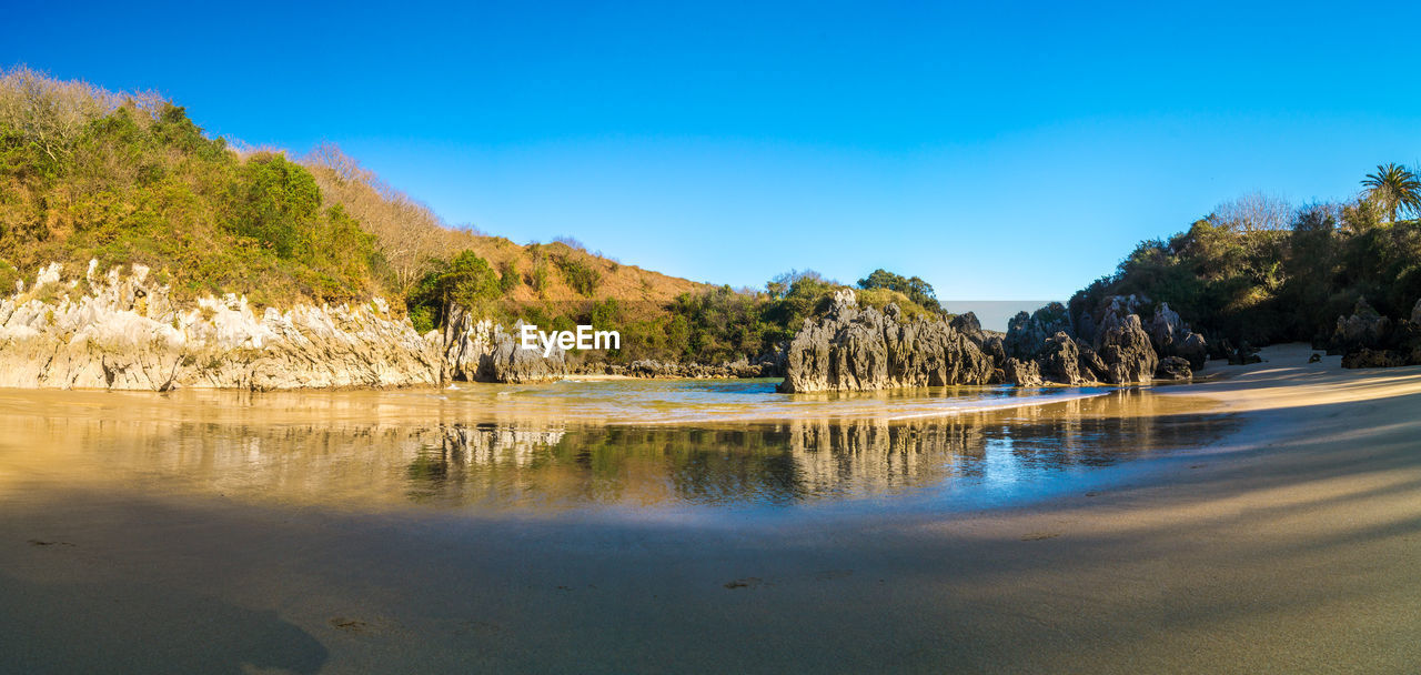
[[[77,274],[91,259],[101,270],[146,266],[178,301],[381,296],[419,331],[439,327],[450,303],[504,325],[615,327],[622,350],[578,358],[620,362],[760,357],[843,287],[791,271],[766,291],[732,290],[573,239],[517,244],[450,227],[330,144],[304,156],[244,149],[151,92],[0,72],[0,288],[30,288],[55,261]],[[870,306],[942,311],[918,277],[878,270],[858,287]]]

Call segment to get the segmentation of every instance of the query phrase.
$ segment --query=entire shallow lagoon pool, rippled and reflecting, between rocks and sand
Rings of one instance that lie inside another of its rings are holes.
[[[0,496],[48,487],[469,514],[942,504],[1049,492],[1229,426],[1148,391],[780,395],[769,381],[0,392]]]

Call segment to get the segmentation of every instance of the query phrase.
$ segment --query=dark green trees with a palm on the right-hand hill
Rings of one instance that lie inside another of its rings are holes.
[[[1169,303],[1195,328],[1252,344],[1324,338],[1367,300],[1391,317],[1421,298],[1421,183],[1378,166],[1346,203],[1290,207],[1252,195],[1188,232],[1142,242],[1117,271],[1077,293],[1073,315],[1111,294]]]

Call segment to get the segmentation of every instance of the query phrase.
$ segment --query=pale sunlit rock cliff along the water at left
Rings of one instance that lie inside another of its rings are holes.
[[[419,335],[382,300],[253,311],[244,298],[186,307],[134,266],[34,287],[0,300],[0,387],[168,391],[178,387],[297,389],[414,387],[443,379],[522,382],[561,372],[563,355],[517,350],[492,323]]]

